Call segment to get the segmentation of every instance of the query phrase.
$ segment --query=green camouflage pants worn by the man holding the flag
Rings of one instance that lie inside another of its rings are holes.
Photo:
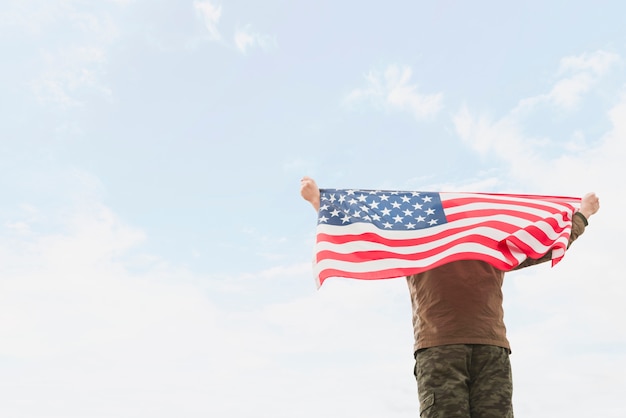
[[[509,351],[491,345],[418,350],[415,378],[422,418],[513,418]]]

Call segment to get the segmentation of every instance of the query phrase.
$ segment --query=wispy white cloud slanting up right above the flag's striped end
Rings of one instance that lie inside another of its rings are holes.
[[[571,133],[571,140],[561,141],[560,147],[571,154],[561,154],[558,157],[550,155],[546,150],[554,145],[554,140],[547,134],[528,134],[528,118],[539,109],[545,109],[546,104],[553,105],[558,111],[573,110],[584,94],[619,61],[619,56],[603,51],[563,58],[558,70],[558,74],[563,77],[555,81],[548,93],[520,100],[517,106],[499,118],[463,106],[453,118],[456,131],[468,146],[483,156],[491,155],[506,163],[513,177],[545,185],[545,180],[542,179],[546,176],[555,179],[554,173],[559,172],[555,170],[555,164],[569,165],[573,159],[578,161],[576,156],[582,150],[588,150],[589,145],[584,143],[581,132],[574,131]],[[615,109],[620,109],[620,106]],[[616,111],[613,110],[610,114]],[[616,118],[611,119],[617,129],[619,121]],[[580,163],[584,164],[584,160],[580,160]],[[577,170],[568,176],[582,177],[583,172]]]

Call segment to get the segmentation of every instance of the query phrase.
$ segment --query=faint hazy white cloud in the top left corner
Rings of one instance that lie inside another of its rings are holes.
[[[114,10],[94,11],[75,0],[11,1],[7,5],[0,26],[37,41],[40,60],[27,85],[41,103],[72,107],[84,104],[85,94],[111,97],[102,76],[108,49],[120,37],[111,17]],[[58,27],[69,36],[59,36]]]

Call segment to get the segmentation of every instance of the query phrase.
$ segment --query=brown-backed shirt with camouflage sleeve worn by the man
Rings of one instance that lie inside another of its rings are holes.
[[[587,220],[574,216],[569,244]],[[527,259],[518,268],[550,260]],[[478,260],[454,261],[407,277],[413,306],[415,351],[448,344],[488,344],[510,350],[504,325],[504,272]]]

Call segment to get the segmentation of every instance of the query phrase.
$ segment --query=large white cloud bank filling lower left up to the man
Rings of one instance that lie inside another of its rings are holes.
[[[144,254],[147,234],[74,174],[71,205],[0,219],[0,415],[414,416],[404,282],[316,291],[307,263],[199,276]]]

